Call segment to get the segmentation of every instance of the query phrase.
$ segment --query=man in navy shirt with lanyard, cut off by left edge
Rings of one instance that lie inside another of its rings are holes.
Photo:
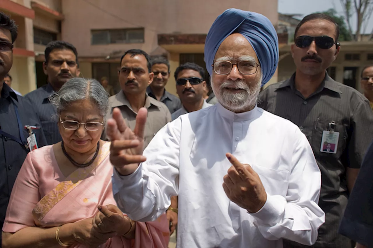
[[[0,12],[0,78],[7,75],[13,64],[13,43],[17,38],[14,20]],[[30,102],[4,82],[0,83],[0,230],[3,227],[10,193],[19,170],[29,152],[31,140],[26,126],[32,128],[33,141],[46,145],[40,120]],[[30,136],[30,137],[31,137]],[[35,144],[32,145],[32,147]],[[1,247],[1,236],[0,236]]]

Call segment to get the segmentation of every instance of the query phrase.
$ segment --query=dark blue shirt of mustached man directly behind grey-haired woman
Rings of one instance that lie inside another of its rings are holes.
[[[48,145],[62,141],[56,121],[58,118],[55,116],[56,108],[48,100],[48,97],[54,92],[52,86],[48,83],[25,95],[25,98],[31,102],[40,118]]]

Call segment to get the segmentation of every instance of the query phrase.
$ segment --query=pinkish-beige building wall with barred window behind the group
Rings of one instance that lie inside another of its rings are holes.
[[[62,39],[78,50],[84,77],[92,76],[92,63],[110,63],[104,58],[113,52],[139,48],[149,54],[158,53],[158,34],[207,34],[213,21],[224,10],[237,8],[262,13],[274,25],[278,22],[277,0],[63,0]],[[196,7],[198,6],[198,7]],[[144,43],[91,45],[92,29],[144,28]],[[176,95],[173,72],[179,66],[180,53],[203,53],[185,50],[169,51],[170,80],[166,90]],[[119,61],[116,56],[115,61]],[[277,81],[277,74],[273,77]]]

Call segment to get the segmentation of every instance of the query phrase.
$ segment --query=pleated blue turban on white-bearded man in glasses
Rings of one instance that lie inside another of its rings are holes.
[[[278,37],[268,18],[255,12],[227,9],[216,18],[205,42],[205,62],[212,75],[214,57],[220,44],[232,33],[242,34],[254,48],[263,72],[262,86],[275,74],[278,60]]]

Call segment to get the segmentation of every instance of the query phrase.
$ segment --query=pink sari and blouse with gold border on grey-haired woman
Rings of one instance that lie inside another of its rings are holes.
[[[97,163],[64,177],[52,146],[30,152],[18,174],[10,197],[4,232],[28,226],[54,227],[94,217],[97,206],[114,204],[109,161],[110,143],[105,143]],[[135,239],[113,237],[102,248],[166,248],[169,224],[163,214],[153,222],[136,222]],[[71,248],[85,248],[74,244]]]

